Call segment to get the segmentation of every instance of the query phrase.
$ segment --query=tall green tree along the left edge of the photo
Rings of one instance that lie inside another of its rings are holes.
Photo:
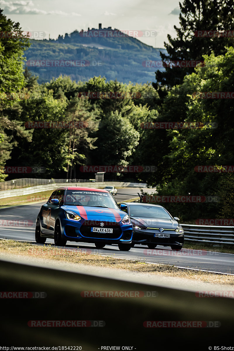
[[[19,22],[7,19],[2,12],[0,9],[0,181],[7,177],[4,166],[13,146],[17,145],[15,135],[30,139],[18,121],[19,93],[25,86],[24,51],[30,43]]]

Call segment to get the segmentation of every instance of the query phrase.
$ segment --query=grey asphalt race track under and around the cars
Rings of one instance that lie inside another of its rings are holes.
[[[132,197],[134,197],[134,195],[137,196],[139,191],[139,188],[118,189],[118,194],[115,196],[116,201],[125,201],[131,198],[131,196],[121,195],[121,193],[132,194]],[[44,203],[2,208],[0,210],[0,238],[35,243],[35,220],[41,205]],[[5,220],[12,221],[12,223],[7,222],[10,225],[4,225]],[[53,240],[47,239],[46,244],[53,244]],[[228,253],[187,249],[172,251],[169,246],[157,246],[154,250],[150,250],[147,246],[143,245],[135,245],[130,251],[123,252],[119,251],[117,245],[106,245],[103,249],[96,249],[94,244],[75,243],[71,241],[67,242],[65,249],[88,250],[90,253],[99,253],[107,256],[115,254],[116,258],[141,259],[144,262],[163,263],[178,267],[234,274],[234,255]]]

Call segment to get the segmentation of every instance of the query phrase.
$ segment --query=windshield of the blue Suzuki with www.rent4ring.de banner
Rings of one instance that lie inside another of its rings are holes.
[[[111,194],[101,191],[67,190],[65,205],[109,207],[119,209]]]

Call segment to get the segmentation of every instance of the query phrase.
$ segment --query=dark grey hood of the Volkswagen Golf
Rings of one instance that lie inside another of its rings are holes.
[[[149,228],[164,228],[164,229],[176,229],[178,222],[174,219],[161,219],[161,218],[140,218],[130,217],[133,225]]]

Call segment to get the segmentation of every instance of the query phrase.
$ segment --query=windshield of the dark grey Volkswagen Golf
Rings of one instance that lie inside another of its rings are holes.
[[[164,208],[157,206],[130,205],[129,212],[131,217],[172,219]]]

